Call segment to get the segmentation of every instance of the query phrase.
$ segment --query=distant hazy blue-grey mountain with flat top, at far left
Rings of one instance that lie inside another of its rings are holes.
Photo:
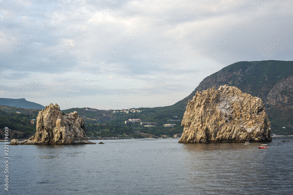
[[[34,103],[31,101],[26,101],[24,98],[21,99],[10,99],[10,98],[0,98],[0,105],[11,106],[16,108],[27,108],[27,109],[37,109],[42,110],[45,106],[41,104]]]

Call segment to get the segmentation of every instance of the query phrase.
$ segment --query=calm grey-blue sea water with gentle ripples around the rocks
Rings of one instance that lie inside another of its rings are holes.
[[[0,194],[293,193],[292,137],[274,137],[269,149],[258,149],[261,143],[178,140],[9,146],[9,192],[4,190],[2,160]],[[4,154],[4,142],[0,148]]]

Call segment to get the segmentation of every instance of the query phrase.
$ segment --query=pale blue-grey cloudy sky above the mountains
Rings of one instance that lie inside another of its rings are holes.
[[[173,105],[227,65],[292,61],[292,9],[292,0],[2,0],[0,97],[60,109]]]

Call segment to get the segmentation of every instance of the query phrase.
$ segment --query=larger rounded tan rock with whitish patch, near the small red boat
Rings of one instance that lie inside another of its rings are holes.
[[[196,92],[188,101],[179,143],[272,141],[265,105],[237,87]]]

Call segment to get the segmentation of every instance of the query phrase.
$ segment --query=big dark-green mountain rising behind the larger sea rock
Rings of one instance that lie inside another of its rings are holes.
[[[293,134],[293,61],[237,62],[206,77],[195,90],[172,108],[185,110],[197,91],[228,84],[265,103],[272,133]],[[285,128],[284,128],[285,127]]]

